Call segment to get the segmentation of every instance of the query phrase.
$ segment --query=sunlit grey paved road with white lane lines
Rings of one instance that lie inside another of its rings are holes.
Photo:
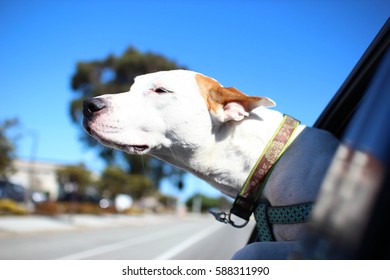
[[[253,228],[234,229],[210,216],[111,220],[108,226],[101,226],[95,218],[72,228],[23,232],[1,230],[1,222],[0,259],[26,260],[230,259]],[[18,226],[23,228],[20,222]]]

